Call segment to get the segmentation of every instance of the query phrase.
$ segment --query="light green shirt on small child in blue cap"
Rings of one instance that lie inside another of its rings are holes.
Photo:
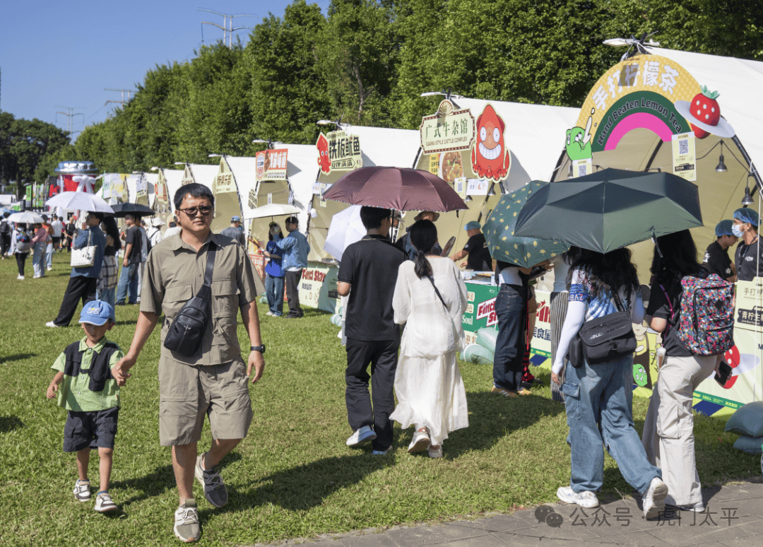
[[[108,339],[104,336],[98,345],[90,348],[87,344],[87,337],[82,337],[79,341],[79,351],[82,352],[81,367],[88,370],[95,354],[100,353],[107,342]],[[116,365],[123,356],[124,353],[121,349],[112,353],[108,367],[111,368]],[[56,372],[63,372],[65,366],[66,356],[62,352],[50,368]],[[114,378],[106,381],[103,391],[90,391],[89,385],[90,375],[87,372],[80,372],[74,377],[64,375],[58,388],[58,406],[75,412],[94,412],[121,406],[119,403],[119,386]]]

